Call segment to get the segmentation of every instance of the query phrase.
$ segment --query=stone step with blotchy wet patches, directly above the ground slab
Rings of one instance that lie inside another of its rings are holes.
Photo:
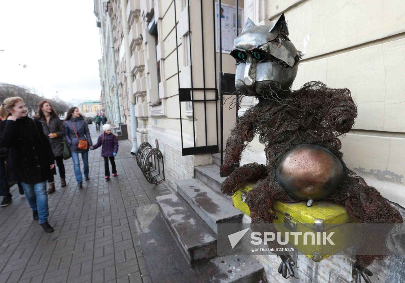
[[[170,230],[190,264],[217,255],[215,233],[198,214],[176,194],[156,197]]]

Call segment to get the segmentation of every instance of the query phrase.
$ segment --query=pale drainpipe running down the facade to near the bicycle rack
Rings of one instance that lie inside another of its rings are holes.
[[[138,151],[138,145],[136,144],[136,128],[138,128],[138,119],[135,117],[135,95],[134,92],[132,91],[132,83],[134,82],[134,74],[131,72],[131,55],[132,52],[130,52],[129,48],[129,30],[130,26],[128,24],[128,21],[126,19],[126,8],[127,8],[128,0],[121,0],[121,16],[122,16],[122,25],[123,25],[123,31],[124,31],[124,47],[125,47],[125,69],[126,69],[126,78],[127,78],[127,84],[128,84],[128,93],[130,97],[130,115],[131,115],[131,132],[132,132],[132,149],[131,149],[131,154],[136,155],[136,151]]]

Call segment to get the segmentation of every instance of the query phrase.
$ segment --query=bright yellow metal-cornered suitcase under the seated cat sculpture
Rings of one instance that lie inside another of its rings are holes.
[[[250,210],[247,206],[246,193],[249,192],[255,183],[248,183],[233,195],[234,206],[250,216]],[[334,246],[325,245],[304,245],[303,240],[298,241],[298,245],[291,245],[301,253],[307,255],[315,262],[338,253],[339,251],[350,247],[356,243],[352,225],[347,223],[356,223],[356,219],[347,214],[344,206],[330,201],[315,201],[311,207],[307,202],[285,203],[279,200],[274,204],[277,219],[274,220],[276,228],[281,234],[284,232],[315,232],[315,243],[322,243],[318,237],[323,237],[323,232],[334,232]],[[321,233],[316,233],[321,232]],[[339,236],[341,235],[341,236]],[[290,241],[291,243],[292,241]]]

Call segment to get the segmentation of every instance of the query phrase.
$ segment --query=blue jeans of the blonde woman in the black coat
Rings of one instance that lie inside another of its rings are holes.
[[[47,181],[36,184],[21,182],[31,209],[38,211],[39,223],[48,221],[48,194]]]

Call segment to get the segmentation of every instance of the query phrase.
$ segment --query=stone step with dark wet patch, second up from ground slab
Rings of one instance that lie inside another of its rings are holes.
[[[234,208],[226,196],[217,194],[196,179],[177,181],[176,186],[180,196],[216,235],[220,223],[241,223],[243,213]]]

